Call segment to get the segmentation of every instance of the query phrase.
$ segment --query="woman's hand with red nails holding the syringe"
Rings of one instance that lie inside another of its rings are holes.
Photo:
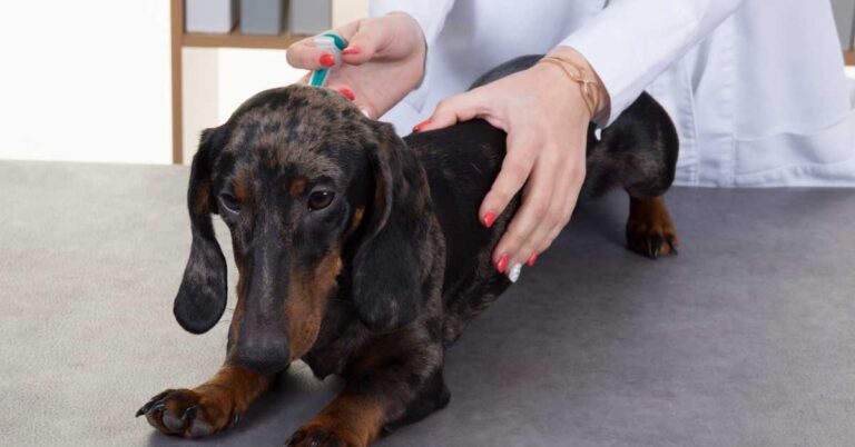
[[[331,71],[326,87],[377,118],[422,81],[425,42],[419,23],[404,12],[362,19],[333,30],[347,41],[342,66]],[[296,68],[318,70],[334,63],[333,54],[303,39],[286,53]]]

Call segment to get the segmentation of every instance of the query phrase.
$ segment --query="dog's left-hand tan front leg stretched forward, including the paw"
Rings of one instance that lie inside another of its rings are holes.
[[[137,411],[167,435],[197,438],[237,424],[249,404],[271,385],[262,375],[226,361],[208,381],[193,389],[167,389]]]

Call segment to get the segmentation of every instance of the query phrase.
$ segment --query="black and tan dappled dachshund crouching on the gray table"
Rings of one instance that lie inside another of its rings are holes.
[[[337,93],[303,86],[262,92],[205,131],[190,173],[193,246],[175,317],[202,334],[226,307],[226,261],[212,226],[218,213],[239,271],[226,360],[205,384],[160,393],[137,416],[170,435],[224,430],[296,359],[346,385],[289,446],[367,446],[444,407],[445,349],[511,284],[490,255],[519,198],[490,229],[476,216],[504,141],[480,120],[402,140]],[[625,188],[629,247],[672,252],[677,236],[661,195],[677,137],[664,109],[645,95],[588,141],[583,193]]]

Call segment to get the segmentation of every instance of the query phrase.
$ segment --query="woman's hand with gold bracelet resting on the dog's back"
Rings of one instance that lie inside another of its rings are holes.
[[[569,58],[593,74],[584,58],[571,48],[559,47],[550,54]],[[598,95],[599,102],[605,103],[605,91],[599,89]],[[591,112],[579,83],[560,67],[537,63],[443,100],[433,116],[413,130],[439,129],[473,118],[483,118],[508,132],[502,169],[479,216],[490,227],[522,189],[522,205],[492,255],[497,269],[515,281],[522,264],[533,265],[570,220],[584,180]]]

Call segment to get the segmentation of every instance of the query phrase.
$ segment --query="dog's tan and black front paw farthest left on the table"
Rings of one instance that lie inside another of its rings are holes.
[[[158,430],[185,438],[200,438],[232,427],[239,411],[226,393],[167,389],[137,411]]]

